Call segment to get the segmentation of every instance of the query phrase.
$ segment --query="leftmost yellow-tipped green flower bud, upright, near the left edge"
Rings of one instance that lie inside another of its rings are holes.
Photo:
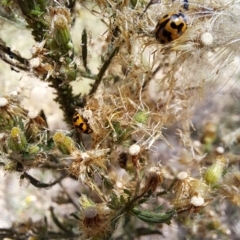
[[[20,128],[12,128],[8,139],[8,147],[12,151],[23,151],[27,148],[26,138]]]

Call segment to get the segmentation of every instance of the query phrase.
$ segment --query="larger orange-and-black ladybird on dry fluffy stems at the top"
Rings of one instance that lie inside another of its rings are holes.
[[[169,43],[179,38],[186,29],[186,16],[181,12],[171,12],[158,21],[155,36],[161,44]]]

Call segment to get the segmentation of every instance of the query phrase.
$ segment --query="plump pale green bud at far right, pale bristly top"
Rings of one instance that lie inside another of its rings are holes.
[[[226,159],[224,156],[217,157],[215,163],[210,166],[205,175],[204,179],[208,185],[216,184],[222,177],[223,170],[226,166]]]

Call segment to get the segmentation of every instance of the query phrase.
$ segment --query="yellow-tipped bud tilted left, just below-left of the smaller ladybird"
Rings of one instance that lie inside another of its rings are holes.
[[[61,132],[56,132],[54,134],[53,141],[60,150],[60,152],[65,155],[70,155],[76,150],[73,140],[70,137],[65,136]]]

